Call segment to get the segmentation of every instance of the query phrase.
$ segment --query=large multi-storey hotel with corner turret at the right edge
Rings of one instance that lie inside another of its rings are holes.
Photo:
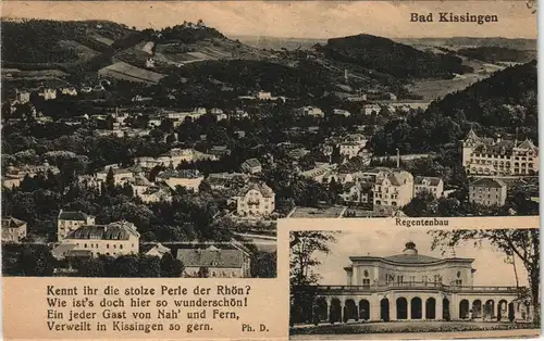
[[[539,148],[526,139],[482,138],[474,130],[462,140],[462,166],[469,175],[528,176],[540,169]]]

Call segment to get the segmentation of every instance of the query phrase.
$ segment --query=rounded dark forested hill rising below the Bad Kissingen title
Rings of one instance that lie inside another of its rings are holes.
[[[341,62],[391,74],[398,78],[452,78],[472,72],[454,54],[423,52],[391,39],[357,35],[329,39],[318,50]]]

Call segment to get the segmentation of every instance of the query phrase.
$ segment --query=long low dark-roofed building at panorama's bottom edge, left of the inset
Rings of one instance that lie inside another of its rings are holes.
[[[246,278],[250,277],[251,256],[242,248],[178,249],[177,260],[184,264],[182,277]]]

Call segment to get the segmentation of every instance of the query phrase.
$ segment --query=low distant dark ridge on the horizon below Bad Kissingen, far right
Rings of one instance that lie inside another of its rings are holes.
[[[489,63],[527,63],[536,58],[536,50],[515,50],[502,47],[479,47],[457,50],[458,54]]]

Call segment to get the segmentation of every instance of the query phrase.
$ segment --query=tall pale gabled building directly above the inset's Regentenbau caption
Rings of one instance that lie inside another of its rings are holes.
[[[413,199],[413,176],[406,171],[379,174],[373,187],[374,209],[399,209]]]

